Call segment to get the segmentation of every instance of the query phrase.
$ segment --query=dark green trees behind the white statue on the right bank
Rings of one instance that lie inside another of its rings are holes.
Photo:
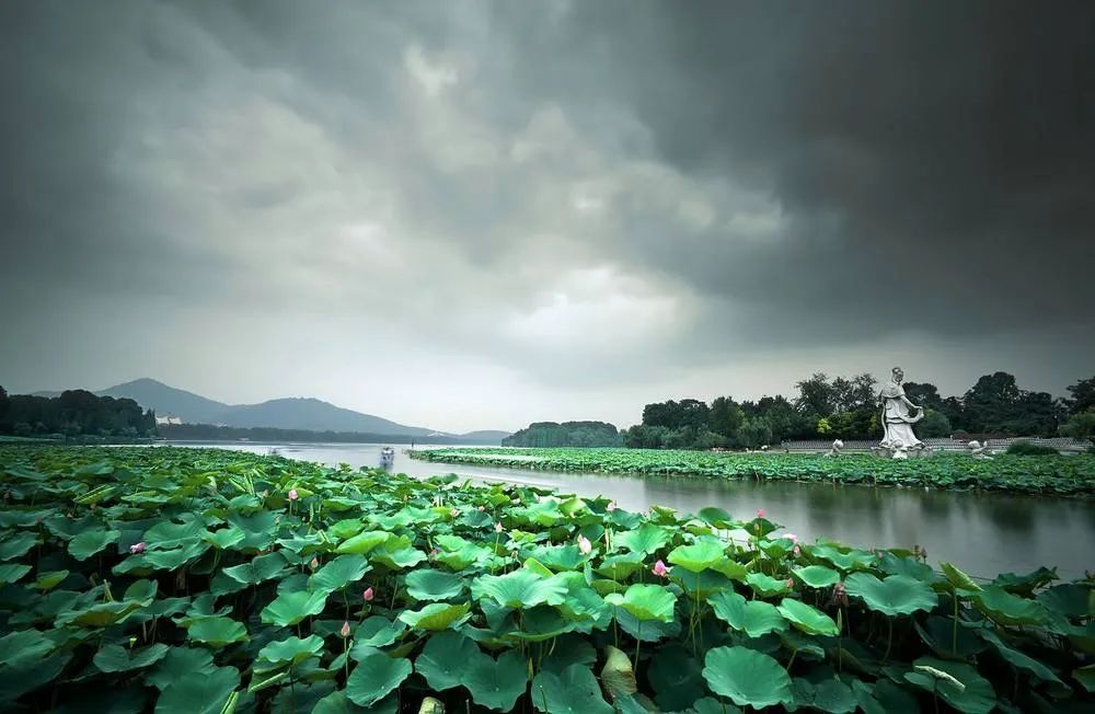
[[[647,449],[758,448],[797,439],[881,437],[872,375],[830,378],[816,372],[795,383],[791,399],[776,394],[737,402],[719,396],[647,404],[643,422],[624,431],[624,445]],[[929,382],[906,382],[909,399],[924,407],[921,438],[946,436],[1095,435],[1095,377],[1068,388],[1070,398],[1021,389],[1013,375],[984,375],[961,396],[940,395]]]

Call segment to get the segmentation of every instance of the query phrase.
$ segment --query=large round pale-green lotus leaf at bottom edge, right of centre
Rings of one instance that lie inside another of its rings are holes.
[[[794,701],[791,677],[772,657],[748,647],[715,647],[703,660],[711,691],[739,706],[762,709]]]

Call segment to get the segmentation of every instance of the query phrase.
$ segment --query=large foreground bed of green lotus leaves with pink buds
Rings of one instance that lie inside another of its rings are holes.
[[[0,492],[14,711],[1095,705],[1091,578],[975,581],[764,514],[174,448],[2,446]]]

